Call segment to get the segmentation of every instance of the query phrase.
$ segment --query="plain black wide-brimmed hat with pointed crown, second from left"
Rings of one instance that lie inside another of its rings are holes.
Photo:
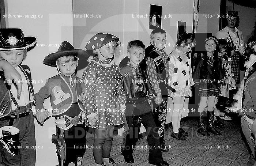
[[[75,49],[69,42],[64,41],[61,43],[57,52],[51,53],[47,57],[45,57],[44,64],[56,67],[56,61],[60,57],[64,57],[64,56],[78,57],[79,55],[89,56],[85,50]]]

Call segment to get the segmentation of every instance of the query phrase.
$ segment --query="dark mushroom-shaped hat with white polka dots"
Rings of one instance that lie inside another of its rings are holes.
[[[89,42],[86,44],[85,48],[87,50],[96,50],[99,49],[109,42],[115,40],[116,42],[119,41],[119,38],[116,37],[115,35],[109,34],[109,33],[104,33],[104,32],[99,32],[95,34]]]

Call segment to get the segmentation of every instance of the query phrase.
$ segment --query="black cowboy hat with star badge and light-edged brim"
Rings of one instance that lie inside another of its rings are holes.
[[[36,41],[37,38],[34,36],[24,36],[19,28],[0,29],[0,50],[26,49],[33,46]]]

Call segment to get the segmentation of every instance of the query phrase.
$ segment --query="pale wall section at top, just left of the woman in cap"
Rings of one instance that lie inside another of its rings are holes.
[[[219,18],[215,17],[214,14],[219,14],[220,4],[221,0],[200,1],[197,33],[212,33],[212,35],[215,35],[219,31]],[[208,14],[211,15],[211,18],[206,17]]]

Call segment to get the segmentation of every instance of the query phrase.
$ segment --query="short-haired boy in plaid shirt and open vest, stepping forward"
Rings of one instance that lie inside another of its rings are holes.
[[[162,158],[158,127],[155,125],[152,109],[146,96],[146,91],[149,88],[147,87],[148,78],[140,69],[140,63],[144,58],[145,45],[139,40],[130,41],[128,42],[127,51],[125,59],[129,58],[129,60],[126,64],[121,64],[122,66],[120,66],[123,75],[124,91],[127,94],[125,116],[129,127],[129,133],[126,136],[125,148],[123,150],[124,161],[134,163],[132,147],[138,141],[140,125],[142,123],[146,128],[146,133],[148,133],[148,145],[153,147],[159,146],[159,148],[151,148],[149,150],[148,163],[157,166],[168,166],[169,164],[163,161]]]

